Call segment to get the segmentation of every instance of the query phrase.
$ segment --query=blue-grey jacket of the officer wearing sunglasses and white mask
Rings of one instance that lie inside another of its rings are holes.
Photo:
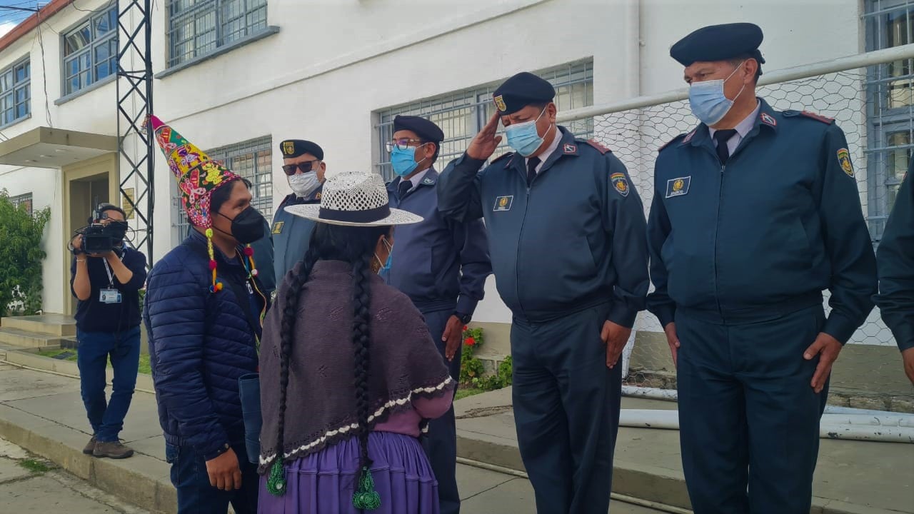
[[[321,203],[322,190],[323,187],[318,187],[304,198],[298,198],[294,194],[283,198],[279,209],[276,209],[276,214],[273,215],[273,273],[280,284],[286,273],[292,271],[295,264],[304,259],[311,243],[311,232],[314,230],[314,221],[290,214],[285,208],[289,205]]]

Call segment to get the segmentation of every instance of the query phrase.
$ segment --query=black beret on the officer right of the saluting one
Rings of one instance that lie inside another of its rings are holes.
[[[759,51],[762,37],[761,28],[752,23],[701,27],[676,41],[670,48],[670,57],[683,66],[691,66],[696,61],[727,60],[749,54],[764,64]]]

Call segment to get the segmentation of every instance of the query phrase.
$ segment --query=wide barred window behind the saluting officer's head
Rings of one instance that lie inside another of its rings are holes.
[[[577,61],[536,73],[556,88],[555,102],[559,112],[593,105],[593,60]],[[492,117],[495,109],[492,92],[498,88],[499,84],[501,81],[427,100],[388,107],[378,112],[377,140],[380,144],[378,148],[380,160],[375,165],[378,173],[385,180],[391,180],[394,177],[393,169],[390,167],[390,154],[388,154],[385,144],[393,137],[395,116],[398,114],[422,116],[441,127],[441,131],[444,132],[444,141],[441,143],[438,162],[435,163],[436,168],[440,170],[463,154],[473,137]],[[593,137],[592,118],[568,123],[567,128],[579,137]],[[509,148],[503,139],[492,158],[507,151]]]

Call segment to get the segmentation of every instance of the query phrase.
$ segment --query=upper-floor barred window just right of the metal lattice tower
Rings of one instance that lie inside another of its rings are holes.
[[[267,0],[169,0],[168,68],[267,28]]]

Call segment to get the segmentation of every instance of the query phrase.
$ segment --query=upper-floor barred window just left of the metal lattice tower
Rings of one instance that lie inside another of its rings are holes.
[[[117,72],[117,5],[63,35],[64,95]]]

